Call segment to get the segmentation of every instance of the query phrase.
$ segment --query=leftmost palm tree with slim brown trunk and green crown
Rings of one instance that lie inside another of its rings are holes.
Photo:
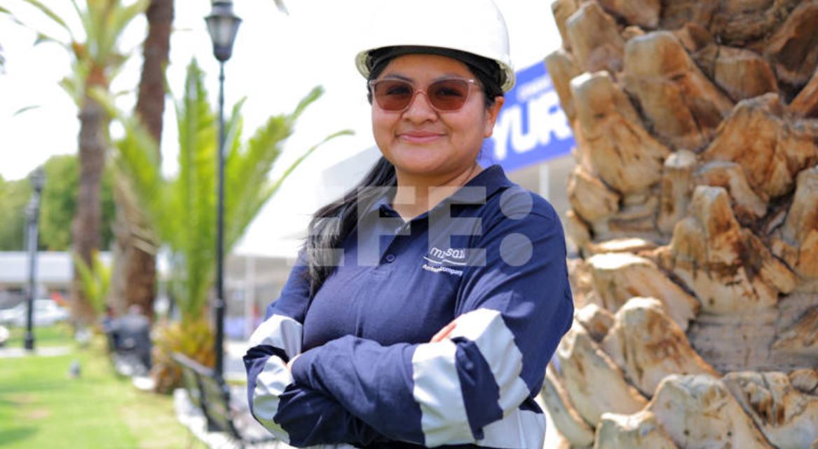
[[[109,116],[97,101],[96,93],[108,92],[126,56],[119,51],[119,37],[131,21],[142,14],[149,0],[87,0],[84,8],[71,0],[81,29],[74,30],[55,11],[39,0],[24,0],[53,24],[64,29],[68,39],[59,39],[38,31],[39,42],[61,45],[73,57],[72,74],[61,85],[79,108],[79,193],[77,215],[71,224],[74,252],[92,265],[92,254],[101,243],[100,184],[108,147]],[[3,2],[7,3],[7,2]],[[0,10],[2,12],[11,9]],[[19,20],[18,20],[19,21]],[[77,32],[79,31],[79,33]],[[89,324],[94,317],[92,306],[79,288],[79,272],[74,270],[71,311],[78,324]]]

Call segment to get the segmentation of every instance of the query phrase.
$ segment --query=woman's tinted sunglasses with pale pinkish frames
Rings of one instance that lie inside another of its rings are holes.
[[[456,111],[469,99],[469,90],[474,79],[438,79],[425,89],[415,88],[402,79],[373,79],[369,82],[370,92],[375,102],[384,111],[405,111],[418,93],[424,93],[429,104],[437,111]]]

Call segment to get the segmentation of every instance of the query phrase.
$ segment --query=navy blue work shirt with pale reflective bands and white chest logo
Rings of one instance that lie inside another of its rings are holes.
[[[533,398],[573,317],[555,211],[500,166],[409,222],[391,198],[361,208],[312,300],[301,265],[268,308],[245,356],[254,416],[299,446],[542,447]]]

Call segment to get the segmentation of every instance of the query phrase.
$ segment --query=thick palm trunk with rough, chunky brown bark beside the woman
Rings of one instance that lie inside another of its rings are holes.
[[[818,2],[554,13],[583,257],[543,388],[557,429],[572,447],[816,447]]]

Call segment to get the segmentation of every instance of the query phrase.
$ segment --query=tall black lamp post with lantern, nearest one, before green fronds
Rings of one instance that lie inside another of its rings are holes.
[[[218,208],[216,211],[216,375],[224,369],[224,63],[233,52],[233,42],[241,19],[233,13],[233,2],[216,0],[210,15],[205,17],[213,55],[218,59]]]

